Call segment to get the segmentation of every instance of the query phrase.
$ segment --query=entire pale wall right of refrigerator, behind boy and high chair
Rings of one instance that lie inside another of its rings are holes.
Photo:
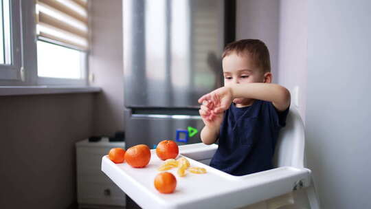
[[[293,100],[300,87],[308,168],[322,208],[371,208],[370,20],[366,0],[237,1],[237,39],[265,41],[276,83]]]

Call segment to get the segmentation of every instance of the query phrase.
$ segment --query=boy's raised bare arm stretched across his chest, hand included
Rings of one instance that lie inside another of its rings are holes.
[[[291,102],[290,91],[273,83],[234,84],[216,89],[199,99],[199,102],[209,100],[214,102],[214,113],[228,109],[234,98],[251,98],[272,102],[278,111],[284,111]]]

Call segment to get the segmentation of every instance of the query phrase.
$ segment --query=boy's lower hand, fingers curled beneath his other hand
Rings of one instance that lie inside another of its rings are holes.
[[[209,126],[211,129],[218,129],[223,122],[224,113],[214,113],[214,104],[207,102],[207,100],[203,101],[199,113],[205,126]]]

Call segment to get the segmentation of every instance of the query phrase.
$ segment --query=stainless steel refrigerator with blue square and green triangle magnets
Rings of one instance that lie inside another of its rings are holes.
[[[235,1],[124,0],[126,148],[201,142],[197,100],[223,85]]]

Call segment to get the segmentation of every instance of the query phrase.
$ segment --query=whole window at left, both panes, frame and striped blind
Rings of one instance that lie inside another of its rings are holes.
[[[87,0],[0,0],[0,7],[1,85],[87,85]]]

